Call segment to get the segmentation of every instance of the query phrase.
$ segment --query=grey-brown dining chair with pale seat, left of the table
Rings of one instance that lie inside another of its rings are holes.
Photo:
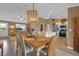
[[[20,35],[20,33],[19,33],[17,39],[18,39],[17,40],[18,41],[18,44],[17,44],[18,49],[17,50],[19,50],[19,51],[17,51],[18,55],[27,56],[27,53],[30,53],[33,51],[32,47],[26,46],[25,41],[24,41],[24,39],[22,39],[22,36]]]

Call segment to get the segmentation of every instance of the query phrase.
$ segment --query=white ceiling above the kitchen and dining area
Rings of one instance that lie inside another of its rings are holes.
[[[68,8],[74,6],[79,6],[79,3],[37,3],[35,9],[43,18],[67,18]],[[32,8],[32,3],[0,3],[0,19],[16,20],[21,15],[27,18],[27,10]]]

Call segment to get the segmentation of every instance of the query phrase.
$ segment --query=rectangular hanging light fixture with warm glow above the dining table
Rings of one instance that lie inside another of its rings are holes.
[[[34,9],[34,3],[33,3],[33,10],[27,11],[27,18],[29,23],[38,22],[38,13],[37,13],[37,10]]]

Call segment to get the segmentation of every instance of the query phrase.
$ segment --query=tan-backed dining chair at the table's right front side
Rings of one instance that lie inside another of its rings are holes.
[[[55,55],[55,44],[57,41],[57,36],[51,37],[46,47],[40,51],[41,56],[54,56]]]

